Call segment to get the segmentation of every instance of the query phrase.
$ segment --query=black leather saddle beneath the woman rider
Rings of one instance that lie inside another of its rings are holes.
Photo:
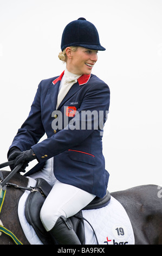
[[[42,241],[44,245],[53,244],[53,242],[50,239],[49,233],[46,231],[46,229],[44,229],[40,219],[40,210],[51,188],[52,187],[48,184],[46,180],[42,178],[37,178],[36,186],[33,192],[29,194],[27,201],[25,203],[25,217],[28,223],[34,228],[37,236],[39,237],[39,239]],[[82,210],[102,208],[109,203],[110,198],[111,198],[111,195],[107,191],[105,197],[103,198],[95,197],[92,200],[92,202],[90,202]],[[83,218],[82,216],[82,210],[79,211],[76,215],[68,218],[67,220],[69,224],[72,226],[72,228],[74,229],[76,235],[79,237],[81,244],[85,245],[85,228],[84,228],[83,221],[84,220],[86,221],[86,219]]]

